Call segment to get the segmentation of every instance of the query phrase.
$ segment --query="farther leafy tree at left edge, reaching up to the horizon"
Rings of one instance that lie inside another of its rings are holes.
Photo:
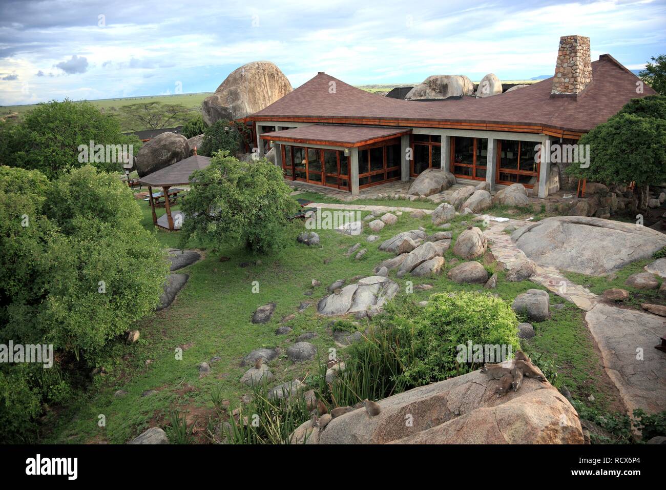
[[[18,124],[0,124],[0,165],[39,170],[49,179],[61,171],[87,165],[79,161],[80,145],[134,145],[141,147],[136,137],[121,134],[111,115],[102,114],[88,102],[52,101],[41,103]],[[104,171],[121,171],[116,161],[88,161]],[[106,160],[106,158],[105,158]]]

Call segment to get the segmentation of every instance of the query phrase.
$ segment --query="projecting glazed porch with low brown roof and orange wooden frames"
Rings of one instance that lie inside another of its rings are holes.
[[[312,124],[262,133],[284,178],[358,195],[360,189],[410,179],[412,129]]]

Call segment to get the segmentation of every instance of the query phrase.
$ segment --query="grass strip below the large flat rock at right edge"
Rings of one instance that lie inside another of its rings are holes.
[[[591,293],[603,295],[603,291],[607,289],[619,288],[629,291],[629,299],[623,301],[623,305],[631,306],[636,309],[641,309],[641,303],[657,303],[663,304],[664,300],[659,293],[659,289],[636,289],[625,284],[627,277],[631,274],[645,272],[643,267],[651,263],[654,259],[642,260],[625,265],[622,269],[615,271],[613,275],[608,277],[598,277],[592,275],[580,274],[577,272],[562,271],[562,274],[576,284],[587,287]],[[661,283],[661,279],[657,277]]]

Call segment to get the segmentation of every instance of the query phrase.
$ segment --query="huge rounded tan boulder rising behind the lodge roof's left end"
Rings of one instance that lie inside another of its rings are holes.
[[[268,107],[292,91],[291,83],[270,61],[252,61],[232,71],[201,104],[206,124],[239,119]]]

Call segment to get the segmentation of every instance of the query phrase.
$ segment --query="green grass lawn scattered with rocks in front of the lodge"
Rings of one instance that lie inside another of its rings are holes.
[[[320,197],[316,200],[322,201]],[[396,201],[389,202],[396,205]],[[149,205],[145,201],[140,204],[144,227],[156,233],[165,247],[177,247],[178,232],[155,231]],[[416,207],[418,204],[428,203],[414,201],[408,205]],[[164,209],[157,211],[159,215],[165,212]],[[452,221],[454,239],[464,229],[460,223],[464,219],[458,217]],[[239,363],[244,355],[259,347],[280,348],[278,359],[269,363],[276,377],[271,385],[316,374],[316,360],[294,365],[286,358],[287,347],[301,333],[317,334],[309,341],[318,347],[322,356],[329,347],[335,346],[329,328],[332,319],[316,315],[316,301],[326,295],[326,287],[336,279],[350,281],[358,275],[374,275],[374,267],[391,257],[389,253],[379,251],[378,245],[400,231],[419,226],[428,233],[440,231],[432,225],[430,217],[415,219],[404,213],[398,223],[382,229],[378,233],[380,239],[374,243],[366,241],[366,229],[356,237],[321,230],[318,231],[321,247],[307,247],[294,240],[284,249],[260,257],[252,257],[235,247],[224,249],[220,255],[204,252],[204,258],[198,263],[178,271],[188,273],[190,277],[174,303],[165,311],[138,323],[141,339],[134,345],[119,343],[111,349],[109,361],[104,365],[107,374],[95,377],[91,386],[68,407],[49,411],[45,421],[45,441],[125,443],[148,427],[166,423],[174,409],[186,411],[190,423],[196,423],[200,430],[205,429],[206,417],[213,413],[213,391],[220,390],[222,399],[229,400],[232,407],[240,403],[243,394],[250,392],[248,387],[238,383],[247,369]],[[368,253],[360,261],[356,261],[353,255],[345,255],[348,247],[355,243],[368,248]],[[220,262],[220,256],[229,260]],[[448,270],[453,267],[450,264],[454,258],[452,251],[447,251],[445,257]],[[256,260],[260,260],[259,265]],[[239,267],[242,262],[254,265]],[[490,272],[496,270],[492,259],[484,259],[482,263]],[[503,271],[499,271],[498,276],[500,281],[494,293],[507,301],[527,289],[538,288],[530,281],[505,282]],[[406,281],[434,286],[429,291],[414,289],[416,301],[427,300],[436,292],[483,289],[482,285],[452,283],[446,278],[446,271],[432,278],[408,276],[403,279],[396,279],[394,271],[391,277],[401,285],[400,295],[406,294]],[[317,279],[321,285],[312,288],[312,279]],[[258,281],[258,293],[252,293],[254,281]],[[298,306],[303,301],[311,301],[312,305],[298,313]],[[272,319],[264,325],[251,323],[250,317],[255,309],[270,302],[277,304]],[[551,302],[561,300],[551,295]],[[276,328],[282,325],[280,319],[291,313],[296,317],[284,325],[292,327],[293,331],[288,335],[276,335]],[[582,315],[575,307],[567,305],[553,311],[551,319],[535,323],[534,327],[537,337],[525,347],[532,355],[545,353],[559,366],[557,383],[565,383],[574,396],[582,398],[587,393],[594,393],[595,403],[612,403],[615,394],[603,383],[599,357],[587,335]],[[182,360],[176,359],[177,347],[183,351]],[[344,349],[338,349],[338,353],[344,357]],[[200,378],[198,364],[210,362],[212,357],[221,359],[211,362],[210,373]],[[127,394],[116,397],[114,393],[119,389]],[[149,390],[155,390],[155,393],[142,396]],[[99,427],[100,415],[105,416],[106,427]]]

